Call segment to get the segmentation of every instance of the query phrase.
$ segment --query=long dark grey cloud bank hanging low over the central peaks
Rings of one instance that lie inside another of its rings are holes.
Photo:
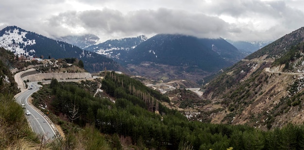
[[[110,9],[66,12],[50,18],[49,22],[54,26],[83,26],[91,32],[109,34],[181,33],[199,37],[220,37],[228,32],[229,26],[218,17],[165,8],[126,15]]]

